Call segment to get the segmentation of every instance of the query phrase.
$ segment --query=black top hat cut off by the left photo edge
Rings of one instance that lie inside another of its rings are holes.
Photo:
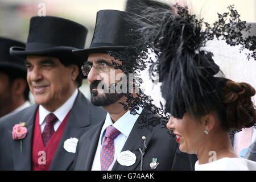
[[[12,46],[24,47],[25,44],[16,40],[0,37],[0,69],[2,71],[10,71],[10,68],[12,68],[11,70],[15,69],[18,71],[27,72],[24,59],[10,55],[9,50]]]

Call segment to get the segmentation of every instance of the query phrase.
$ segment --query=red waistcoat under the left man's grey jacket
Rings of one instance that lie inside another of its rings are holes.
[[[51,166],[52,159],[55,155],[60,139],[68,121],[70,111],[61,122],[57,131],[52,135],[51,139],[44,147],[42,133],[39,125],[39,109],[36,111],[35,127],[32,143],[32,171],[46,171]]]

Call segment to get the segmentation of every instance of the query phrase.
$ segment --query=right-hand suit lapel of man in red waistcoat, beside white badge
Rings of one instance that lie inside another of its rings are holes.
[[[61,137],[50,170],[67,170],[71,166],[75,154],[65,151],[64,142],[69,138],[80,138],[81,128],[90,125],[89,101],[79,92],[71,110],[63,136]]]

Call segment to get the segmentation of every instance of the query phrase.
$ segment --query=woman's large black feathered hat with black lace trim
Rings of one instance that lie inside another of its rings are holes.
[[[141,27],[141,47],[149,47],[156,54],[151,72],[159,73],[165,110],[176,118],[183,118],[187,111],[209,111],[213,103],[222,106],[220,88],[226,79],[216,76],[220,68],[214,63],[213,53],[204,49],[209,40],[240,45],[241,51],[248,49],[251,52],[247,56],[256,60],[255,36],[242,37],[241,32],[250,27],[240,20],[233,6],[228,8],[229,13],[218,14],[212,26],[178,5],[173,11],[150,7],[142,12],[143,19],[134,19]]]

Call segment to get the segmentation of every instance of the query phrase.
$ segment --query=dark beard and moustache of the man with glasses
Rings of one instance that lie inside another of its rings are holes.
[[[98,91],[93,89],[97,88],[100,82],[100,80],[96,80],[90,84],[90,101],[94,106],[108,106],[110,104],[114,104],[123,97],[123,93],[111,93],[110,89],[109,93],[103,93],[99,95]],[[104,84],[103,87],[106,88],[106,85]]]

